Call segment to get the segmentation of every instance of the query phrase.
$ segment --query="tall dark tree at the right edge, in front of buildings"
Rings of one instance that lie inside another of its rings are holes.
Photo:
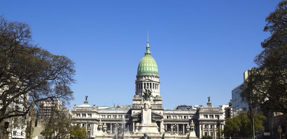
[[[280,1],[266,17],[265,32],[271,36],[261,43],[251,75],[241,87],[241,97],[254,108],[263,104],[267,109],[287,114],[287,0]]]

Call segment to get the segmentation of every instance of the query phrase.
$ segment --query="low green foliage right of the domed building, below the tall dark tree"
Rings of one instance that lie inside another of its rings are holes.
[[[253,115],[255,131],[264,131],[263,120],[265,120],[266,117],[262,114],[262,112],[258,112]],[[223,132],[226,136],[232,136],[235,134],[239,137],[250,137],[253,133],[253,129],[251,128],[253,126],[252,118],[245,112],[239,113],[234,118],[226,119],[225,124]]]

